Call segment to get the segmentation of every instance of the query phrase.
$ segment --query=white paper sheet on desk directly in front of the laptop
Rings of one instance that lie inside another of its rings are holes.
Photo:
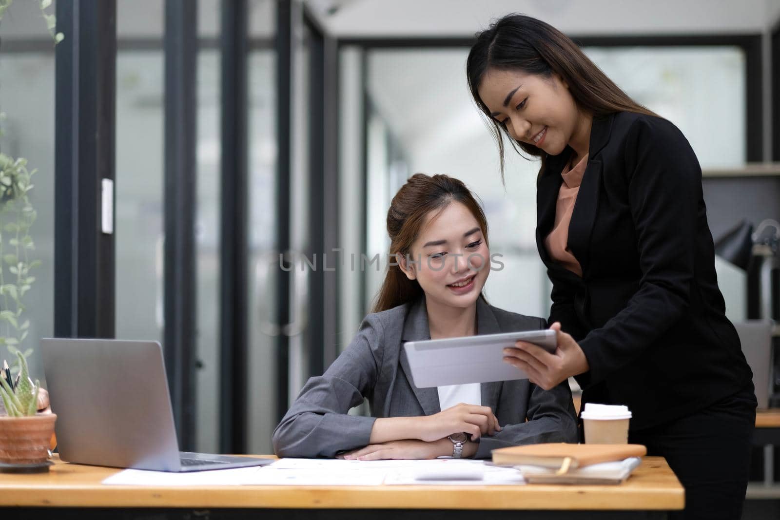
[[[260,469],[261,466],[251,466],[185,473],[124,469],[103,483],[113,486],[238,486]]]

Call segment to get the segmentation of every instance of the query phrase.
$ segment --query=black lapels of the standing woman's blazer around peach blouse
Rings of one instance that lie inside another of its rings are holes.
[[[580,190],[572,211],[572,220],[569,222],[569,250],[580,262],[583,269],[583,278],[588,277],[590,256],[590,235],[596,221],[598,207],[598,193],[601,186],[601,150],[609,142],[612,133],[612,122],[615,114],[607,114],[594,117],[590,127],[590,143],[588,145],[588,161],[583,175]],[[558,191],[561,189],[563,178],[561,172],[566,161],[569,160],[571,147],[566,147],[560,154],[550,156],[547,159],[544,172],[541,173],[537,183],[537,249],[539,256],[549,269],[555,270],[562,276],[572,278],[572,281],[581,281],[573,272],[562,267],[552,260],[544,246],[544,239],[552,231],[555,224],[555,208],[558,202]]]

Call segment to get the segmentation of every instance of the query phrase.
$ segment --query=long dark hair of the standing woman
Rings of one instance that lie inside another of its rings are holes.
[[[501,178],[504,180],[503,133],[509,136],[506,127],[491,118],[491,111],[480,99],[477,89],[489,69],[520,70],[550,78],[558,74],[569,85],[577,106],[597,117],[619,111],[654,115],[623,92],[610,80],[571,38],[539,19],[521,14],[509,14],[491,23],[487,30],[476,34],[477,42],[469,51],[466,60],[466,76],[469,89],[477,106],[488,119],[491,132],[498,143],[501,159]],[[519,153],[541,157],[539,172],[544,172],[547,153],[532,144],[513,140],[512,147]]]

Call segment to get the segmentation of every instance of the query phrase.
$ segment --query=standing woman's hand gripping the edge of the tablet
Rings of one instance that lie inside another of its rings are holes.
[[[518,341],[516,348],[504,349],[505,363],[523,370],[531,383],[544,390],[590,370],[583,349],[574,338],[561,331],[561,324],[556,321],[550,328],[558,332],[558,348],[553,354],[526,341]]]

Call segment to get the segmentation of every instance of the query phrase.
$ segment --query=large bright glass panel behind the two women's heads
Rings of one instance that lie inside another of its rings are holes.
[[[702,168],[744,164],[746,58],[742,48],[583,50],[636,101],[679,126]],[[354,51],[350,47],[342,52]],[[502,255],[503,265],[495,265],[485,286],[488,301],[546,317],[550,287],[534,238],[538,163],[519,157],[507,146],[502,184],[497,147],[466,87],[468,47],[381,48],[378,43],[363,53],[368,255],[387,253],[386,212],[408,175],[455,176],[480,197],[488,217],[491,253]],[[360,66],[355,60],[346,63]],[[714,128],[718,132],[712,132]],[[364,312],[371,308],[383,273],[363,274]],[[744,303],[743,285],[729,281],[730,276],[729,271],[722,277],[724,292],[729,307],[738,313]]]

